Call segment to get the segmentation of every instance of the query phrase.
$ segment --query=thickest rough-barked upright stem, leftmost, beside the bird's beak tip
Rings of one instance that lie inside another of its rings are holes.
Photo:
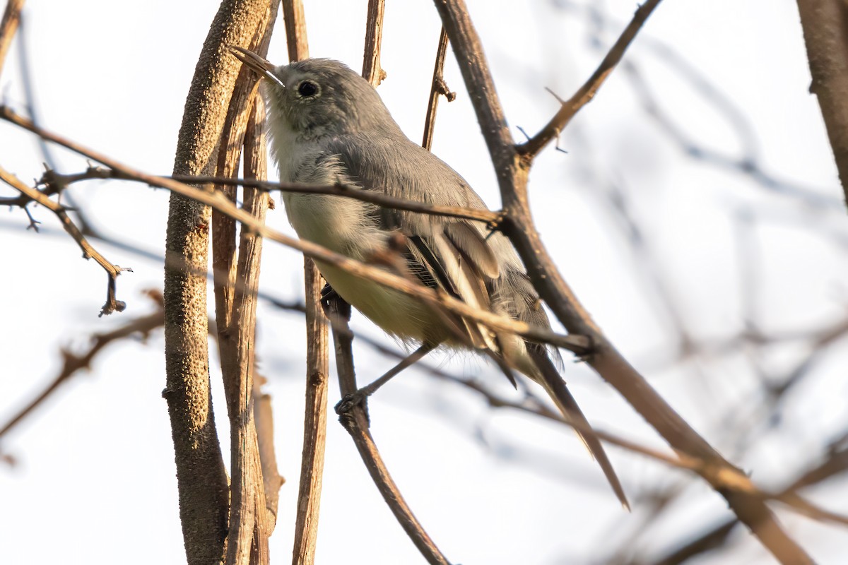
[[[269,0],[225,0],[204,42],[188,93],[174,174],[213,172],[238,64]],[[206,270],[209,208],[172,195],[165,247],[165,371],[187,562],[223,560],[229,492],[209,390]]]

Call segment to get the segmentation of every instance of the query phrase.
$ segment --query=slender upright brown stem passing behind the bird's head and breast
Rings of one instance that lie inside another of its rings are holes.
[[[288,59],[310,56],[306,19],[301,0],[283,0]],[[304,443],[300,460],[298,509],[294,523],[292,562],[315,562],[318,518],[321,513],[321,486],[326,447],[326,399],[330,374],[329,332],[321,308],[321,274],[315,262],[304,256],[306,307],[306,396],[304,399]]]

